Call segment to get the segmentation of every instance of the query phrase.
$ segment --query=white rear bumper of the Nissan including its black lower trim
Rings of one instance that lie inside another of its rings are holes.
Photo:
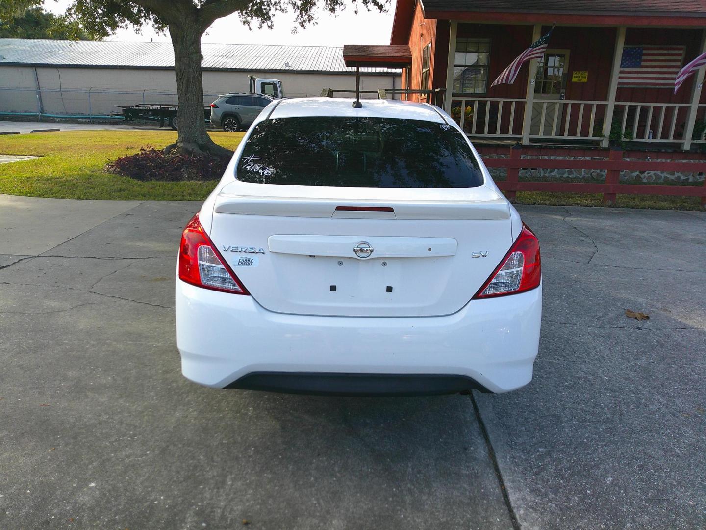
[[[532,379],[542,287],[443,317],[315,317],[177,279],[176,307],[182,372],[208,387],[418,394],[426,379],[431,393],[503,392]]]

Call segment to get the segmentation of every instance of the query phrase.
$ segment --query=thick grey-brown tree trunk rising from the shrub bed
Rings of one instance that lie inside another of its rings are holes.
[[[217,145],[206,132],[203,116],[203,78],[201,76],[201,30],[191,21],[169,23],[174,45],[174,65],[179,97],[179,136],[165,151],[229,157],[232,151]]]

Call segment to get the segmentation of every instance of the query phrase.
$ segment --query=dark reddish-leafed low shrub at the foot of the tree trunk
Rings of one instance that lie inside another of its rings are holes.
[[[107,163],[105,170],[137,180],[217,180],[228,160],[201,155],[165,155],[151,146],[140,147],[135,155],[121,156]]]

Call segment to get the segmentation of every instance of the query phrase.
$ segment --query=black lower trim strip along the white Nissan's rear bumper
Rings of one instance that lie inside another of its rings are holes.
[[[225,388],[337,396],[419,396],[468,393],[473,389],[491,393],[474,379],[462,375],[318,372],[252,372]]]

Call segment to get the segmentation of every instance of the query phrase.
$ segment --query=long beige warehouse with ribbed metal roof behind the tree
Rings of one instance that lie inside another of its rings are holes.
[[[355,68],[345,66],[342,47],[204,43],[202,54],[205,104],[218,94],[246,91],[247,74],[279,78],[289,97],[355,87]],[[365,90],[400,88],[400,69],[368,67],[361,74]],[[57,115],[174,102],[172,44],[0,39],[0,112],[37,113],[38,94],[43,112]]]

